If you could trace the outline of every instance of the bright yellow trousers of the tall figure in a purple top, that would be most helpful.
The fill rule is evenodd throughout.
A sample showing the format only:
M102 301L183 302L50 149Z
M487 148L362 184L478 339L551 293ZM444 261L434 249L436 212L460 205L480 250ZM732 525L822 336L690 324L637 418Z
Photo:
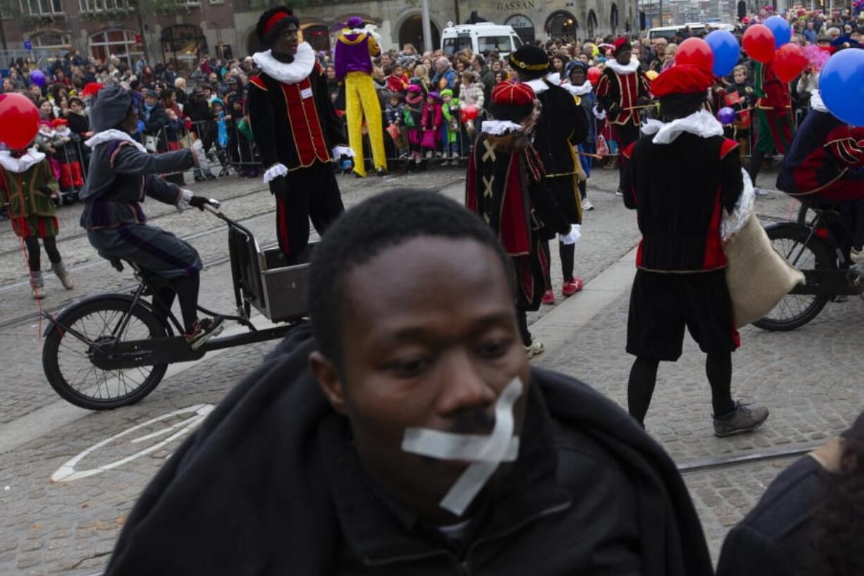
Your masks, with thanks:
M345 76L345 113L348 120L348 145L354 150L354 171L366 175L363 161L363 118L369 143L372 144L372 162L376 170L387 170L384 157L384 130L381 124L381 104L375 92L375 81L370 74L349 72Z

